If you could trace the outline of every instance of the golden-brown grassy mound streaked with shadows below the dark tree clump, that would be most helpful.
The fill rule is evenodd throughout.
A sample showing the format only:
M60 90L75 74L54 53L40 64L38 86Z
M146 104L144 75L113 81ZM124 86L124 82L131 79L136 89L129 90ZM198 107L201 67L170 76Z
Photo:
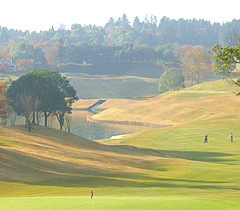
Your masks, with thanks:
M0 159L0 197L85 195L92 187L138 185L152 179L149 161L168 162L153 150L107 146L41 126L31 133L0 126Z

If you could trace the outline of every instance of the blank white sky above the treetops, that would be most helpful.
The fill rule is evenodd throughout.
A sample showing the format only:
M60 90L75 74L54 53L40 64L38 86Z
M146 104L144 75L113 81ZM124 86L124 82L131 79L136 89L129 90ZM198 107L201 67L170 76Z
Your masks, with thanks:
M211 23L240 19L239 0L3 0L0 26L15 30L44 31L63 24L104 26L112 17L126 14L132 24L136 16L144 21L146 15L170 19L204 19Z

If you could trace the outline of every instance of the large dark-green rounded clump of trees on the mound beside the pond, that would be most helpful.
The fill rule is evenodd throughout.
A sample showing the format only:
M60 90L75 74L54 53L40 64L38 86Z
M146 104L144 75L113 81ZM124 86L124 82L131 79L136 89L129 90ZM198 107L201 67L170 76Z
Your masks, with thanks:
M62 129L65 113L71 113L71 106L77 100L76 91L66 77L50 69L40 69L27 72L14 81L7 91L9 105L18 115L30 118L35 112L43 112L45 126L47 118L54 113Z

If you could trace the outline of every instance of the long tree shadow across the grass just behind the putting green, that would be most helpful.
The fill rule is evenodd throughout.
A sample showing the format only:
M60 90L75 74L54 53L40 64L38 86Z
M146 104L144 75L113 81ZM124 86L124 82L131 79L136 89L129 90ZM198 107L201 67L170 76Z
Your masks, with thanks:
M126 178L126 179L123 179ZM167 178L153 178L139 174L121 174L112 177L92 176L73 176L62 177L54 180L40 181L40 182L20 182L12 180L9 182L24 183L28 186L57 186L67 188L169 188L169 189L201 189L201 190L235 190L240 191L240 187L228 185L226 182L212 182L212 181L197 181L197 180L183 180L183 179L167 179Z

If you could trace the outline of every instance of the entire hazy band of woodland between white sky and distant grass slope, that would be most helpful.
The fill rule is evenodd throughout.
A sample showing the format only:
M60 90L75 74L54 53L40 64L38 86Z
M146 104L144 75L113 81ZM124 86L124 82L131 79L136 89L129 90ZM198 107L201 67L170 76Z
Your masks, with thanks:
M240 20L211 24L163 17L158 24L157 17L146 16L144 21L136 17L130 24L126 14L118 20L110 18L104 27L73 24L70 30L62 25L41 32L0 27L0 60L13 62L19 71L97 69L95 74L105 74L105 69L121 74L123 68L118 66L136 62L180 67L182 46L203 46L210 54L216 43L227 42L234 28L240 28ZM0 70L6 68L0 64Z

